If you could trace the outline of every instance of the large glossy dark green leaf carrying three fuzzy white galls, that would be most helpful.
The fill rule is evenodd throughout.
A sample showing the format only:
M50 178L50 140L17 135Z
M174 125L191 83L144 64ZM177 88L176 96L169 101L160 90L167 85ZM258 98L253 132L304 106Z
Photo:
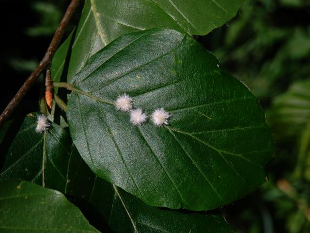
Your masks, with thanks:
M73 80L70 133L101 178L149 205L213 209L265 181L271 134L257 99L191 37L130 33L96 53ZM113 102L123 93L169 126L140 127Z

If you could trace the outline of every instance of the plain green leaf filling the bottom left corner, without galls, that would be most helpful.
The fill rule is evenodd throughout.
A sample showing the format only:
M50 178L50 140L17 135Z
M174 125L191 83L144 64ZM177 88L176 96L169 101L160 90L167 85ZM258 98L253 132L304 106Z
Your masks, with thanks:
M0 183L1 233L99 233L62 193L25 181Z

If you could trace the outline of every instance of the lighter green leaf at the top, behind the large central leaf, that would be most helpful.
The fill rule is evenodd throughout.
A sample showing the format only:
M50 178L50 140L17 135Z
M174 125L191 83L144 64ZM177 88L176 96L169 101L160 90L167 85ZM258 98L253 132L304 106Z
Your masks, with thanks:
M204 35L236 15L244 0L86 0L72 47L68 80L88 58L126 33L170 28Z

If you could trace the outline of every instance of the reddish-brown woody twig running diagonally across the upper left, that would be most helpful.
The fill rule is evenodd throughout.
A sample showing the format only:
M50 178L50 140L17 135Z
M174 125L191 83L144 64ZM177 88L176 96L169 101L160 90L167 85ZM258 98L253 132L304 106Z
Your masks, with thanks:
M3 113L0 115L0 128L2 127L3 123L9 118L12 112L15 110L15 108L20 103L20 101L24 98L24 96L29 91L29 89L31 88L31 86L33 85L37 77L46 69L47 66L49 66L62 40L62 36L65 31L65 28L67 27L70 19L72 18L74 11L78 7L78 3L79 3L79 0L71 0L62 18L62 21L60 22L54 34L54 37L48 46L47 52L45 53L42 61L39 63L38 67L36 67L32 71L31 75L28 77L25 83L20 87L15 97L10 101L8 106L4 109Z

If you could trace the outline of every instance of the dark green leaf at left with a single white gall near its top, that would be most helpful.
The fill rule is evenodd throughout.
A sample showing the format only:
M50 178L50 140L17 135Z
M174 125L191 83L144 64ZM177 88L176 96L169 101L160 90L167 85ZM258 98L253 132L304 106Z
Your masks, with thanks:
M64 193L72 145L70 135L54 123L46 133L37 133L37 116L32 113L23 122L15 120L0 129L0 151L5 156L0 181L22 178L43 186L48 183L49 188Z

